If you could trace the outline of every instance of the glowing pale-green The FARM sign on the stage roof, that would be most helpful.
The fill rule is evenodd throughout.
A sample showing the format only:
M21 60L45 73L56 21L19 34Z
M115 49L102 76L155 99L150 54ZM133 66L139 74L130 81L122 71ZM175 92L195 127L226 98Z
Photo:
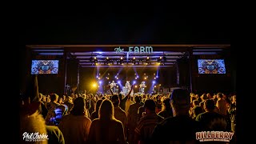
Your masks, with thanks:
M139 53L139 54L142 54L142 53L153 53L153 47L152 46L129 46L128 47L128 52L129 53ZM123 52L126 52L124 49L122 49L120 46L119 47L116 47L114 48L114 51L115 53L123 53Z

